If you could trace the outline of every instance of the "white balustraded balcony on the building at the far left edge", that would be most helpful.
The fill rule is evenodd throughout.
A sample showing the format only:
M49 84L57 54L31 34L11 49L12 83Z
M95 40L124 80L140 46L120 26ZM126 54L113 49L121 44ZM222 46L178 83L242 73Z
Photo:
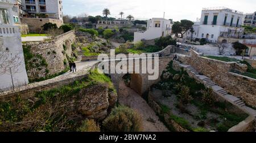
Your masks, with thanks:
M19 27L12 25L0 25L0 37L14 37L19 35Z

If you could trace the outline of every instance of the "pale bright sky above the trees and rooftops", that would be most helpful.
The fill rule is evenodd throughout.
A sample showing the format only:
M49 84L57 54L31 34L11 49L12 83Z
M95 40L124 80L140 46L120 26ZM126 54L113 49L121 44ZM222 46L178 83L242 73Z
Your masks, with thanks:
M109 17L121 18L133 15L135 19L147 20L163 18L179 21L200 18L204 7L228 7L244 14L256 11L256 0L63 0L64 15L79 14L101 15L104 8L109 8Z

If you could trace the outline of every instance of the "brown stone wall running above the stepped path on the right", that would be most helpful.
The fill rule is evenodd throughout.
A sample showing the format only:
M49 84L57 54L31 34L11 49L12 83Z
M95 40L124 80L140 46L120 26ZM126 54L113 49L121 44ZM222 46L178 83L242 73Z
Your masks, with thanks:
M230 70L245 72L247 69L245 64L200 57L193 50L191 51L191 56L185 57L183 62L190 64L197 71L210 77L229 93L242 98L248 105L256 107L256 80L230 72Z

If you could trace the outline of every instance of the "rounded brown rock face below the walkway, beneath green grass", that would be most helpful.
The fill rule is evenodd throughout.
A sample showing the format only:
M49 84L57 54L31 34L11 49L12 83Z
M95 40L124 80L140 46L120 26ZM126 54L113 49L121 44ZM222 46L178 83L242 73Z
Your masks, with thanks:
M108 88L105 86L95 85L80 91L76 108L86 118L102 120L108 107Z

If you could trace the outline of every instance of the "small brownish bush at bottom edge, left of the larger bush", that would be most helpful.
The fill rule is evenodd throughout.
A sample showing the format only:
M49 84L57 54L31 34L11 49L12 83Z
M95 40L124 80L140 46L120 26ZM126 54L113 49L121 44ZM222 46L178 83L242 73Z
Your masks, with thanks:
M78 132L100 132L100 126L92 119L82 121L82 124L77 128Z

